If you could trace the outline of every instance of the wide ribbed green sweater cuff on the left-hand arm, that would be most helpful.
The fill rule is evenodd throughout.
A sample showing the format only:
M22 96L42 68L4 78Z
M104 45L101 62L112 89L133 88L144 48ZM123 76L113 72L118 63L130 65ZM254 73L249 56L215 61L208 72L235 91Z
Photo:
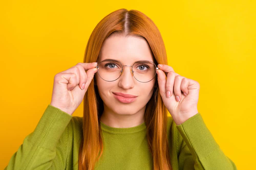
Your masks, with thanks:
M72 115L49 104L28 140L36 146L55 150L71 118Z

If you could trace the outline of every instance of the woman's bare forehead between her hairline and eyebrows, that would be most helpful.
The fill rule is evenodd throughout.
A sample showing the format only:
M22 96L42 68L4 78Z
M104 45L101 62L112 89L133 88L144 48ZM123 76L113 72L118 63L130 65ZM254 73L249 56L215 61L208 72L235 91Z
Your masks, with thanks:
M138 60L154 61L150 46L143 37L119 34L104 41L97 61L106 59L118 60L123 64L132 64Z

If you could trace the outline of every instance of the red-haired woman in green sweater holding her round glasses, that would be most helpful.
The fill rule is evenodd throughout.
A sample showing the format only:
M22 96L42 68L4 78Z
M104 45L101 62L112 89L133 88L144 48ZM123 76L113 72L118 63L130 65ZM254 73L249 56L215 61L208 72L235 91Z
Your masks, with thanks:
M84 63L55 75L51 103L6 169L237 169L198 113L199 88L167 65L150 18L116 10ZM83 117L72 116L83 99Z

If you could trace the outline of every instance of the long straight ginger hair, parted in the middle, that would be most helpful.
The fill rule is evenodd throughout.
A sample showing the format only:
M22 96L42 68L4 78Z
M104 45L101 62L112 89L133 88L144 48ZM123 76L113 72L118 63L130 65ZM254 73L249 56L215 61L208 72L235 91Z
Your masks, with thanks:
M115 33L145 38L150 45L156 64L167 64L164 42L154 22L140 11L124 8L111 12L96 25L86 46L84 62L97 61L104 40ZM95 77L84 95L83 104L83 136L79 149L78 167L91 170L94 169L103 151L100 127L103 101L95 85ZM146 106L144 120L154 169L172 169L167 138L167 109L159 93L157 79L153 95Z

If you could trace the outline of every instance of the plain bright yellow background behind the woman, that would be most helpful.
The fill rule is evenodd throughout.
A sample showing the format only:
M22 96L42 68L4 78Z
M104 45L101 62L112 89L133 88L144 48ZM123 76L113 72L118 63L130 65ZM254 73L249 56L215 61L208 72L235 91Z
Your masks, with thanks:
M200 84L198 111L237 168L255 162L255 1L2 1L0 169L35 129L54 75L83 61L110 12L136 9L159 28L168 65ZM82 116L82 104L73 116Z

